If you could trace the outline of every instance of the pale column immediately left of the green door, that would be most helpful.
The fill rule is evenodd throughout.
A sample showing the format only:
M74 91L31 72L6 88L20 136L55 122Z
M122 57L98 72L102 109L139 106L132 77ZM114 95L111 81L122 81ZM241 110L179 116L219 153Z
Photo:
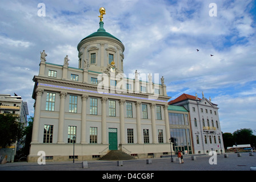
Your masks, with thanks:
M101 143L106 144L107 143L107 118L106 118L106 102L107 97L101 98L101 105L102 105L102 111L101 111Z

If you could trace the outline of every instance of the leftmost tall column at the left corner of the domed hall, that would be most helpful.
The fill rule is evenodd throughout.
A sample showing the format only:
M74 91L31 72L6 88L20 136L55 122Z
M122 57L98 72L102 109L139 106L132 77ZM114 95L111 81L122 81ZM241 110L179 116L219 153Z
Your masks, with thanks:
M33 132L32 132L31 143L39 143L38 142L38 130L39 130L41 100L42 100L43 89L40 89L40 88L35 89L35 94L37 94L37 98L35 99L35 113L34 113Z

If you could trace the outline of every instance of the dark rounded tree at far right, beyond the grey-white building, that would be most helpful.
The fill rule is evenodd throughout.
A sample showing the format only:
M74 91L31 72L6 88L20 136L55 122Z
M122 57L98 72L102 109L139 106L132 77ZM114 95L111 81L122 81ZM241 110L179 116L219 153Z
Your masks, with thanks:
M252 144L253 130L251 129L240 129L233 133L234 141L237 144ZM253 142L254 143L254 142Z

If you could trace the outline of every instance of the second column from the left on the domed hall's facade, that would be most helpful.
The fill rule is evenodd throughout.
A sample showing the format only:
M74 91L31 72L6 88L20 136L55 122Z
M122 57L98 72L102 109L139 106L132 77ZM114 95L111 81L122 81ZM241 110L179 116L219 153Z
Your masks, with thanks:
M61 92L59 96L61 97L61 102L59 104L59 130L58 130L57 143L64 143L64 140L63 140L64 114L65 114L65 98L67 96L67 92Z

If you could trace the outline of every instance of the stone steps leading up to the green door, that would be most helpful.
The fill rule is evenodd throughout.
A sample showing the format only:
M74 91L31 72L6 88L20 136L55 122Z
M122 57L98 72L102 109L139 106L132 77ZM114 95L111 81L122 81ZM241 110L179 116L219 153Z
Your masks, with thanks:
M106 155L99 158L99 160L133 160L133 156L126 154L120 150L110 150Z

